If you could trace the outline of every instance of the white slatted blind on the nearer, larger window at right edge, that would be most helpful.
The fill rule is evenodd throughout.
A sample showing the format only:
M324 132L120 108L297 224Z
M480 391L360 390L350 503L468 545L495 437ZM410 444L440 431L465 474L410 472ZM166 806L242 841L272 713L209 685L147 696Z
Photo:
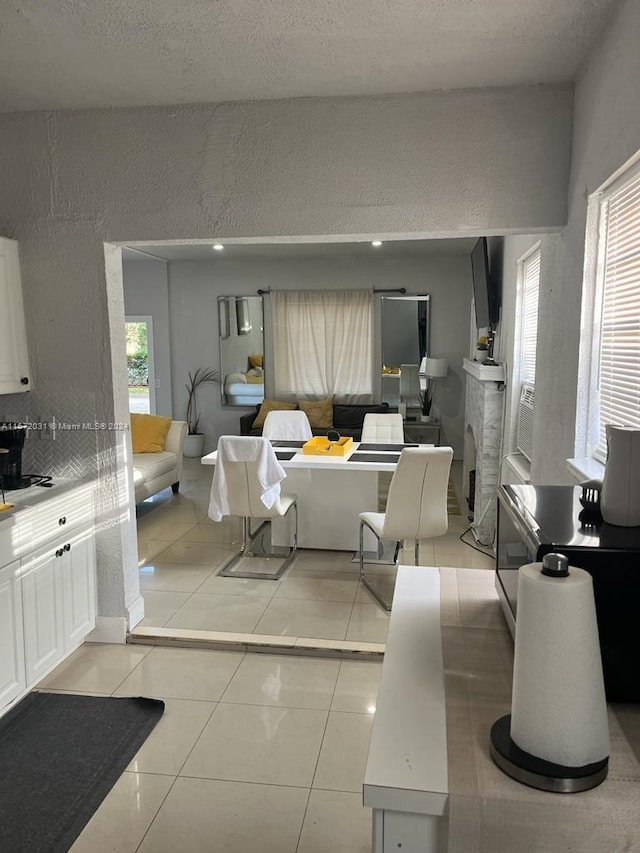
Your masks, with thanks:
M640 429L640 172L604 207L600 429L594 455L606 458L606 424Z

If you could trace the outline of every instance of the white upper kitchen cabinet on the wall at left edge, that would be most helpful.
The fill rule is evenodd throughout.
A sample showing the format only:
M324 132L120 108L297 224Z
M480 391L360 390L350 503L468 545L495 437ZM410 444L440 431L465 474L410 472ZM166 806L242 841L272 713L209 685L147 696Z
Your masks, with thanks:
M0 394L31 387L18 244L0 237Z

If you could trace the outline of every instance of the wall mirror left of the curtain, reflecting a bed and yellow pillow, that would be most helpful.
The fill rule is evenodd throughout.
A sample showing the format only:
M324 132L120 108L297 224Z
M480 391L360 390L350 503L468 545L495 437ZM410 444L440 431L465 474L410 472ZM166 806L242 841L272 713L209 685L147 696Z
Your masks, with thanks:
M261 403L264 400L262 297L219 296L218 316L222 405Z

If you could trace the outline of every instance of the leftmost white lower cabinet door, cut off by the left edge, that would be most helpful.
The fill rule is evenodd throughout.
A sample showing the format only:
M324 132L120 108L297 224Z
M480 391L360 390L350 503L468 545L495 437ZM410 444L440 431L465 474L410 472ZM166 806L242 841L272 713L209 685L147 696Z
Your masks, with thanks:
M26 687L19 562L0 569L0 708Z

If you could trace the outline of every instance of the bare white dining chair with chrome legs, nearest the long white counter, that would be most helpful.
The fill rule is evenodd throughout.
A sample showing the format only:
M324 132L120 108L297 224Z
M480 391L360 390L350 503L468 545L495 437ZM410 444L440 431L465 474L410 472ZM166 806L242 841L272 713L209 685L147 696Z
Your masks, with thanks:
M447 491L452 459L451 447L405 448L391 479L386 511L360 513L360 580L385 610L391 610L391 602L365 573L364 528L378 542L395 540L396 564L401 543L413 540L414 560L419 565L420 540L443 536L449 528Z

